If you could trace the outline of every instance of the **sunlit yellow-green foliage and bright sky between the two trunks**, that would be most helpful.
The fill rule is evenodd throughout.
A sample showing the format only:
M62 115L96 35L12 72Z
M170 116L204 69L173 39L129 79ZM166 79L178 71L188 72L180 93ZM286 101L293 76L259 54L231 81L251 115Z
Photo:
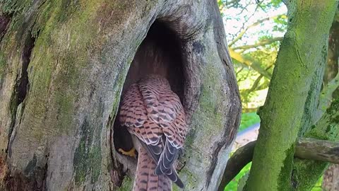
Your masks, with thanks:
M218 0L218 5L243 108L258 108L266 98L279 42L287 29L287 9L281 0Z

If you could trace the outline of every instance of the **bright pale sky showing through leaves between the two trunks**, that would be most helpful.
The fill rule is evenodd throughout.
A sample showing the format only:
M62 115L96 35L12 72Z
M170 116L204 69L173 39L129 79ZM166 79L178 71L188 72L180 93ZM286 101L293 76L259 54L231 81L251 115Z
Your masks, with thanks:
M263 3L268 3L270 1L264 0ZM246 6L246 8L223 8L222 9L222 19L224 21L225 32L227 35L227 43L230 45L230 42L239 35L239 31L242 28L247 28L247 26L256 23L256 21L263 18L270 18L278 15L286 15L287 7L285 4L280 4L278 8L271 7L263 8L258 7L255 0L240 0L239 4L241 6ZM287 20L287 18L285 18ZM253 45L258 41L258 37L263 35L270 35L272 37L283 37L285 31L274 31L273 26L277 25L273 22L273 18L270 18L268 21L264 21L260 25L247 30L242 39L238 40L232 47L237 47L240 45ZM247 50L251 51L251 50ZM249 76L249 79L241 81L238 83L240 89L251 88L252 83L256 80L258 75ZM260 105L263 105L266 100L268 88L261 91L256 91L253 98L247 105L249 108L257 108Z

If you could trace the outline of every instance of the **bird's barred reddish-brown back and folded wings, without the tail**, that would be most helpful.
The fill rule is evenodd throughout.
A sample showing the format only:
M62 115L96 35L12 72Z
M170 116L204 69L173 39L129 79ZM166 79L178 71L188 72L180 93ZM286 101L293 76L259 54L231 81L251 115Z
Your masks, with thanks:
M173 168L186 137L186 119L179 97L159 81L133 84L121 103L120 122L141 141L156 175L166 175L184 187ZM162 137L165 135L164 141Z

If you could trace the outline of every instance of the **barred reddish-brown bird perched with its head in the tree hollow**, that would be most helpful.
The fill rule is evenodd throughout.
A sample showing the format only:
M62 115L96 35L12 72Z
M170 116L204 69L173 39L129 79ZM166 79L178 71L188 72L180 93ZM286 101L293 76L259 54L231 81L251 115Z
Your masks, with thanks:
M172 182L183 188L174 161L186 138L186 115L167 79L152 74L133 83L121 100L119 122L138 151L133 190L172 190ZM119 151L133 156L135 149Z

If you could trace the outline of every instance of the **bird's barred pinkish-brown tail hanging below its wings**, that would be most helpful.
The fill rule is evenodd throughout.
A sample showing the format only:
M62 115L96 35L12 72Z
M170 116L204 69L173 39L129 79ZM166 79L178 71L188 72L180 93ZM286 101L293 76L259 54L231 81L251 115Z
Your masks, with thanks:
M155 175L157 164L148 156L143 146L138 153L138 166L134 180L134 191L171 191L172 183L166 175Z

